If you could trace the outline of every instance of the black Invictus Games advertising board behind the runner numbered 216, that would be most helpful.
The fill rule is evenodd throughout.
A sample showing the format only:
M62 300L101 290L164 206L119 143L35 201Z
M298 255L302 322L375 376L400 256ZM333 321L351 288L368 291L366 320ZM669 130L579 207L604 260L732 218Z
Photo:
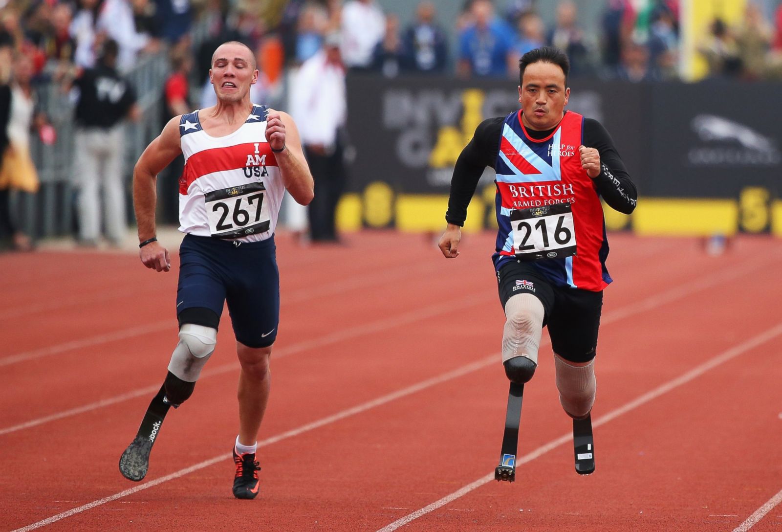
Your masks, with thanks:
M396 192L447 193L456 158L486 118L518 110L518 82L451 77L348 77L348 131L356 147L350 191L387 182ZM569 110L600 120L640 184L647 169L647 88L574 81ZM644 104L646 102L646 104ZM491 171L484 180L493 179Z

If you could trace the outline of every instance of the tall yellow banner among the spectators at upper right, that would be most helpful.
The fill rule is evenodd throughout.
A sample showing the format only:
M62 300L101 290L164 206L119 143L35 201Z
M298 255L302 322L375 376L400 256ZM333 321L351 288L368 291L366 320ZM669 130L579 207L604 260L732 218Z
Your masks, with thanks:
M721 19L728 27L741 22L747 0L682 0L680 3L680 73L686 81L708 74L708 65L698 48L707 45L711 25Z

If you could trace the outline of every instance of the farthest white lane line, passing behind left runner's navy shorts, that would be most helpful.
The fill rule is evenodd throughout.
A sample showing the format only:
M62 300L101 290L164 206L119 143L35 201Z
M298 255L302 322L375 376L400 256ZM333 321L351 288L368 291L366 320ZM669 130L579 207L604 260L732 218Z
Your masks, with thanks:
M429 271L432 268L418 268L412 271L420 273L421 271ZM411 268L396 268L394 270L398 272L398 277L405 278L411 273ZM302 289L292 292L289 296L282 297L283 308L288 304L300 303L301 301L311 300L314 297L326 297L338 293L344 293L350 289L361 289L366 286L374 286L378 282L378 275L382 279L391 279L396 275L393 271L381 271L375 272L372 275L365 275L364 277L354 278L347 282L333 282L328 286L323 286L320 289ZM9 357L0 358L0 367L5 365L16 364L17 362L34 360L35 358L48 357L52 354L65 353L71 350L84 349L85 347L92 347L102 343L116 342L118 340L126 340L128 338L134 338L135 336L142 336L150 333L160 333L165 330L176 330L173 318L166 319L160 322L149 323L146 325L140 325L137 327L131 327L129 329L122 329L113 333L99 334L96 336L89 336L82 340L74 340L66 343L59 343L50 347L41 347L40 349L25 351L23 353L14 354Z

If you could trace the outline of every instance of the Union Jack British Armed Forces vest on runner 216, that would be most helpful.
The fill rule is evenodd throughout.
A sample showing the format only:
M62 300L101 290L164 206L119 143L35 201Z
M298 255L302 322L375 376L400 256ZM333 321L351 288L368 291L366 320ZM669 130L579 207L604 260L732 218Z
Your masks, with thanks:
M567 210L568 223L555 228L560 235L575 239L575 254L568 257L549 257L531 261L529 265L540 271L555 286L600 291L612 281L605 268L608 257L608 238L600 196L593 180L581 167L579 146L583 144L583 116L569 111L557 128L546 138L528 135L522 124L522 111L505 117L500 135L500 149L494 166L497 172L497 247L493 254L494 267L500 270L508 261L517 260L520 235L529 237L546 232L532 220L524 232L514 231L511 220L519 213L540 215L546 207ZM565 205L562 205L565 204ZM571 217L572 215L572 217ZM517 222L518 223L518 222ZM540 224L540 221L539 221ZM537 229L536 229L537 228ZM540 230L540 231L539 231ZM546 243L553 241L554 225L548 227Z

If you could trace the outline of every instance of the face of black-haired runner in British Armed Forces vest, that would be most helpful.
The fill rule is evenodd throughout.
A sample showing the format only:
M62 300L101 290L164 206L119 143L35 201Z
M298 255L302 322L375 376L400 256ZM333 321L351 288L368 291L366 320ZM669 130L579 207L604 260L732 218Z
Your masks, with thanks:
M553 129L562 120L569 96L560 66L542 61L527 65L518 86L524 126L536 131Z

